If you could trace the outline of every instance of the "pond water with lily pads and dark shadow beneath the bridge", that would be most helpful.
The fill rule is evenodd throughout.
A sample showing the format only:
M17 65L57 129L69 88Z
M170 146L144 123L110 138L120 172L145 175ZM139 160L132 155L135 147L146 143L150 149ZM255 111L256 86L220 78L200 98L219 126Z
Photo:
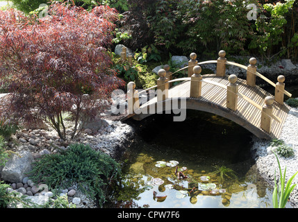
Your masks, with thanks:
M249 131L206 112L188 110L183 122L172 118L131 121L137 137L105 207L272 207L272 187L256 171Z

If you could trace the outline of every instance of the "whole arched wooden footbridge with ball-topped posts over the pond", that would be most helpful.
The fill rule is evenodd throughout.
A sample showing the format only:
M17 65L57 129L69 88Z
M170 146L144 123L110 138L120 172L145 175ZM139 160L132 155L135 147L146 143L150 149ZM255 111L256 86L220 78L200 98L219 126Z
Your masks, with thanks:
M288 105L283 103L284 94L292 96L285 91L283 83L285 77L279 76L278 82L273 83L256 71L256 58L251 58L250 65L246 67L227 61L224 51L220 51L219 56L217 60L197 62L197 55L191 53L188 67L183 68L188 69L188 77L185 78L172 79L174 73L169 71L168 65L165 65L164 69L158 71L160 78L157 80L157 85L149 88L157 89L156 96L141 105L139 94L148 92L149 89L138 92L135 83L129 83L128 113L122 121L129 118L142 120L151 114L170 113L169 111L174 112L178 109L201 110L230 119L261 139L279 138L290 110ZM216 73L201 76L199 65L207 63L217 63ZM226 76L226 65L246 69L247 79L240 79L235 75ZM256 76L275 87L274 96L256 85ZM172 86L175 81L181 83Z

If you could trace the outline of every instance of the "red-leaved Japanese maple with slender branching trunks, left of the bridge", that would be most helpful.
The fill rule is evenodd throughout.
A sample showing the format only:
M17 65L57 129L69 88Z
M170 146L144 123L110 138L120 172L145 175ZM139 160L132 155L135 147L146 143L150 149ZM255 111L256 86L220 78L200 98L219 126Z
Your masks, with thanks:
M107 51L117 11L53 2L48 14L38 19L0 10L0 81L12 92L2 115L42 119L65 139L63 112L69 112L73 138L79 120L96 117L113 89L123 84L109 68Z

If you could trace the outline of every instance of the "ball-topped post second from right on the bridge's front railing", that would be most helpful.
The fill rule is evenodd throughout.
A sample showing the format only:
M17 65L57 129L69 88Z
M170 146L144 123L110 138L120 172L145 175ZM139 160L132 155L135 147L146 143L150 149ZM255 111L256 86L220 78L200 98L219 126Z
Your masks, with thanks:
M238 103L238 84L236 84L238 77L236 75L229 76L229 85L227 85L226 90L226 108L229 108L233 111L237 110Z

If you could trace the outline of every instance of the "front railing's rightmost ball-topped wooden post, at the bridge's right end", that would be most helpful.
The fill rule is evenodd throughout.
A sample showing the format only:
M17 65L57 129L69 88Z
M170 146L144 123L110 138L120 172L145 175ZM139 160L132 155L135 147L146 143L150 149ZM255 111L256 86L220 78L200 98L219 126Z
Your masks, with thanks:
M265 98L265 105L263 105L262 114L260 117L260 128L265 130L267 133L270 133L271 131L271 117L269 115L272 114L273 103L274 99L272 96L267 96Z

